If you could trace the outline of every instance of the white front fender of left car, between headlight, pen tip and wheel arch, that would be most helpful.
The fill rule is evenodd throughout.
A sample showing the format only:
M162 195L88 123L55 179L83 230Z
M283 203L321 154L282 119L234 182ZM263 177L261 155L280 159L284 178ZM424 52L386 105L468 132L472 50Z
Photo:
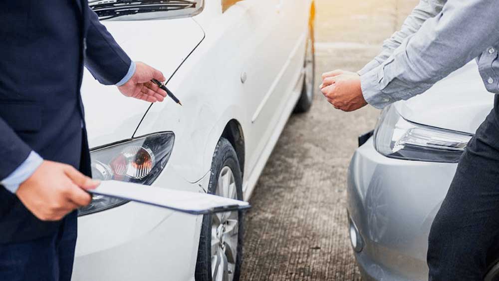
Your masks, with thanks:
M203 46L200 46L203 49ZM204 52L195 51L167 83L182 101L175 104L168 97L151 105L134 137L160 131L175 133L175 145L165 169L175 170L188 182L197 182L211 168L211 160L225 126L237 119L243 127L244 107L238 104L242 90L237 84L221 88ZM198 77L193 78L193 77Z

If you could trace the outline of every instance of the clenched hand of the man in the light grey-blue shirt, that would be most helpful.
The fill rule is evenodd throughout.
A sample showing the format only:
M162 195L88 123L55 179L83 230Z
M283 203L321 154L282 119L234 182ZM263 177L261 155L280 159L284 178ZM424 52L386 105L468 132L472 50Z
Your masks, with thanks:
M340 69L326 72L322 74L320 89L336 109L354 111L367 105L362 95L360 76L355 72Z

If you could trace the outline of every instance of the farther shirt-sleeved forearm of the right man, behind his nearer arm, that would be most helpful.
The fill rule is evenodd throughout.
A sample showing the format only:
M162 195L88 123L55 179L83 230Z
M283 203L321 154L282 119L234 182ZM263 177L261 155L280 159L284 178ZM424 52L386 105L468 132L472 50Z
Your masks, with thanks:
M393 33L390 38L383 42L381 53L366 64L358 73L363 75L386 61L407 37L416 33L421 28L427 19L436 16L442 11L442 4L440 3L443 1L444 0L421 0L406 18L400 30Z

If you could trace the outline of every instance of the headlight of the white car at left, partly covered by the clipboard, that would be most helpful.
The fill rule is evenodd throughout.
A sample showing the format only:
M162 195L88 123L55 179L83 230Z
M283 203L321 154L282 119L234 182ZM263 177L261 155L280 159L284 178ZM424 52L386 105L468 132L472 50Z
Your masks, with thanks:
M151 185L166 166L172 153L175 135L172 132L144 137L92 149L92 177ZM87 215L126 203L126 200L95 195L92 202L79 210Z

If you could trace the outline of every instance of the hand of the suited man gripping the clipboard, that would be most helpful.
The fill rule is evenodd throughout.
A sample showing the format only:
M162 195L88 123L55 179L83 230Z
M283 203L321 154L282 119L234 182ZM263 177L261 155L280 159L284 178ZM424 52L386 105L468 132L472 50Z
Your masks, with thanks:
M58 221L92 200L84 189L94 189L98 181L70 165L43 161L15 193L24 206L42 221Z

